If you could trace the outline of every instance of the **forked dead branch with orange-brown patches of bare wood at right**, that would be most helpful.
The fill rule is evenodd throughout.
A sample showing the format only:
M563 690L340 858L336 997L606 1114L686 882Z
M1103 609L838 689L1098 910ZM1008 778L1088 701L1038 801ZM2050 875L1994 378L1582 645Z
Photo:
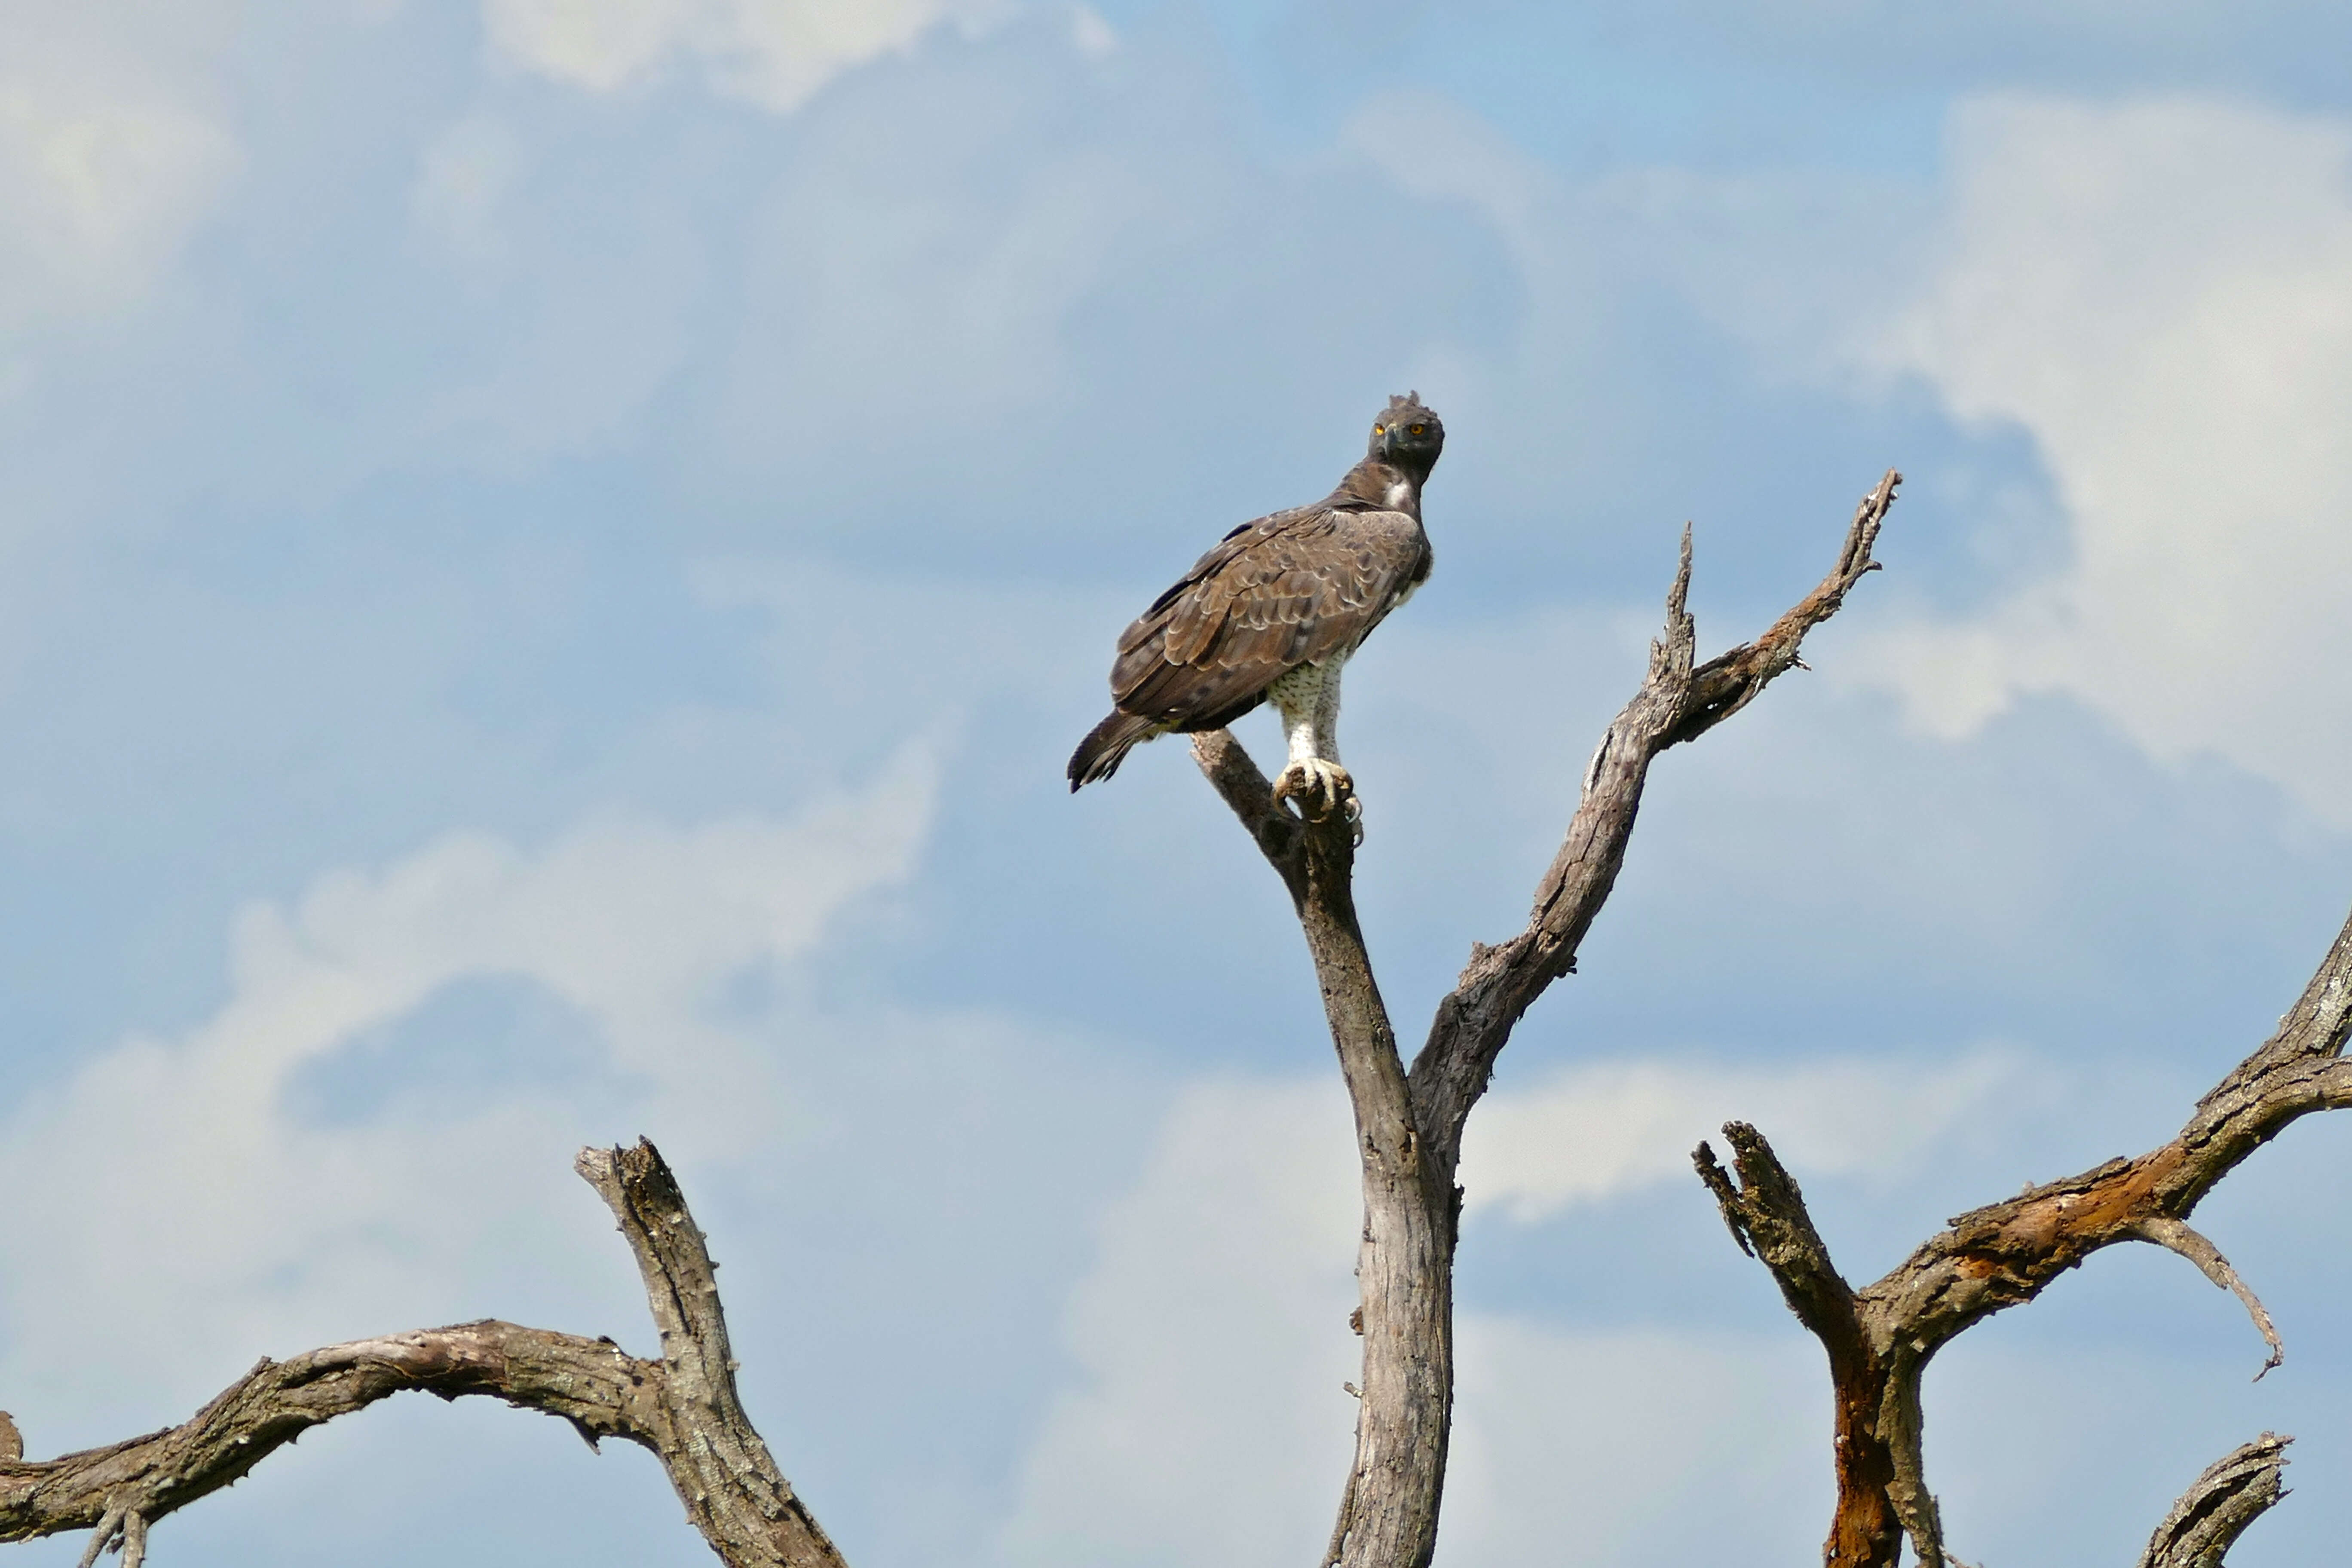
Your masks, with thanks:
M1860 1291L1844 1291L1828 1267L1828 1251L1820 1251L1816 1265L1766 1246L1755 1248L1792 1307L1804 1291L1844 1291L1860 1326L1865 1354L1856 1359L1844 1338L1823 1333L1820 1309L1797 1312L1830 1352L1837 1389L1839 1488L1823 1547L1825 1563L1893 1568L1900 1542L1884 1533L1889 1509L1903 1521L1922 1568L1947 1561L1922 1462L1919 1378L1957 1335L1994 1312L2030 1302L2058 1274L2105 1246L2147 1241L2194 1262L2206 1279L2237 1293L2260 1331L2270 1354L2256 1378L2279 1363L2284 1347L2270 1312L2230 1260L2190 1229L2187 1215L2220 1178L2291 1121L2352 1105L2352 1060L2343 1056L2347 1032L2352 922L2345 922L2303 997L2279 1020L2277 1034L2197 1103L2171 1143L2138 1159L2110 1159L2082 1175L1971 1208ZM1740 1248L1757 1241L1759 1215L1771 1215L1778 1225L1802 1222L1811 1237L1804 1199L1762 1133L1733 1121L1724 1126L1724 1138L1733 1150L1738 1182L1715 1164L1708 1145L1698 1145L1696 1161ZM1818 1246L1818 1237L1813 1244ZM1835 1281L1835 1291L1823 1276Z

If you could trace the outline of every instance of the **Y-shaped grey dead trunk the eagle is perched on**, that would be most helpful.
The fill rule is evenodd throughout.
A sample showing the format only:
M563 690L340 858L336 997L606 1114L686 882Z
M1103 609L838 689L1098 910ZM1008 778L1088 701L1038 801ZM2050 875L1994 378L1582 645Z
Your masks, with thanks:
M1327 816L1282 809L1265 776L1225 731L1192 738L1202 773L1279 872L1298 910L1341 1077L1355 1105L1364 1168L1357 1253L1364 1387L1357 1450L1331 1533L1327 1568L1425 1568L1437 1544L1446 1439L1454 1415L1454 1248L1461 1190L1454 1173L1470 1110L1526 1009L1576 969L1576 947L1616 886L1651 759L1696 741L1795 668L1804 635L1837 614L1870 557L1903 475L1889 473L1846 529L1837 564L1762 637L1693 665L1691 534L1651 644L1642 689L1602 733L1559 853L1536 886L1526 929L1472 945L1454 992L1437 1006L1411 1072L1355 919L1352 823L1345 802Z

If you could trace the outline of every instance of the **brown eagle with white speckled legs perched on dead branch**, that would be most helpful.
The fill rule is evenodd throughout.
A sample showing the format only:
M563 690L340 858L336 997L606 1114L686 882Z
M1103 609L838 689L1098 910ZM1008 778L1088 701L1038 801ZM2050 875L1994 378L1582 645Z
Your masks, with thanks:
M1070 788L1110 778L1141 741L1223 729L1272 698L1291 759L1275 795L1329 811L1352 792L1338 764L1338 672L1430 576L1421 487L1446 428L1421 393L1390 397L1371 449L1329 496L1244 522L1120 635L1112 715L1070 755Z

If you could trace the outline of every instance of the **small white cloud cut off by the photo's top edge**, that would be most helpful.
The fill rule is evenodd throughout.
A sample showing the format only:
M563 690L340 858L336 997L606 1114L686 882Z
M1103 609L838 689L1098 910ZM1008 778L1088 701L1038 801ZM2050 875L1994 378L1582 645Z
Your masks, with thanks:
M588 92L689 63L724 96L786 113L842 71L906 49L957 0L485 0L506 59Z

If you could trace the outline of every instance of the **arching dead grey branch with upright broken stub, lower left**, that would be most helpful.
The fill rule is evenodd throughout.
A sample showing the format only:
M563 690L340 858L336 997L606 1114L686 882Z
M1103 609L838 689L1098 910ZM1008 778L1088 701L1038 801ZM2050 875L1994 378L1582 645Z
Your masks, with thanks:
M165 1514L240 1481L310 1427L423 1389L560 1415L590 1448L604 1436L649 1448L694 1528L731 1568L842 1568L736 1399L710 1253L677 1178L644 1140L583 1150L576 1168L637 1255L661 1331L659 1361L612 1340L499 1321L261 1361L179 1427L56 1460L0 1458L0 1542L87 1528L85 1568L108 1544L122 1547L122 1568L139 1568L148 1528ZM7 1418L0 1427L14 1436ZM21 1453L21 1443L9 1446Z

